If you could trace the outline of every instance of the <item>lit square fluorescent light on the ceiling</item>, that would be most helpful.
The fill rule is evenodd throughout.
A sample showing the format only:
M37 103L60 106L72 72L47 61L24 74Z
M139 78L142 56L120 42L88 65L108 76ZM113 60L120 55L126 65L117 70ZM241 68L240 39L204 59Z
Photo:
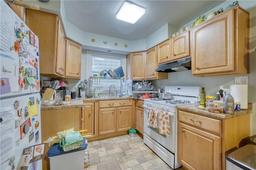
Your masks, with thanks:
M116 19L129 23L136 23L145 12L146 10L144 8L126 1L116 14Z

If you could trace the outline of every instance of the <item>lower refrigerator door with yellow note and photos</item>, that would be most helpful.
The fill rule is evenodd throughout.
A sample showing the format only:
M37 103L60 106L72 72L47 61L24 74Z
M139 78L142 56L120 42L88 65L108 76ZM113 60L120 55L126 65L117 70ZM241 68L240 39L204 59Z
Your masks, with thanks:
M28 161L26 166L28 169L32 168L32 166L42 169L42 160L35 161L34 152L24 154L25 148L30 149L33 145L42 143L40 94L30 94L0 100L0 105L0 169L11 169L10 162L13 156L15 156L15 169L22 169L24 158L27 155ZM34 147L32 147L32 151L34 151Z

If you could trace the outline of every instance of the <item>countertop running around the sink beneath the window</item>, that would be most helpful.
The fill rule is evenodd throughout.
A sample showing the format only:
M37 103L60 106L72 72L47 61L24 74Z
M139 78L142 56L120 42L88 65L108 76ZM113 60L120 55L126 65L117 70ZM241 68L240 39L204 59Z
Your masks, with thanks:
M70 104L68 105L59 105L59 106L46 106L41 105L41 110L56 110L56 109L70 109L70 108L76 108L76 107L84 107L84 101L99 101L99 100L116 100L116 99L134 99L134 97L116 97L116 98L76 98L71 99ZM139 98L139 100L143 100L142 98Z

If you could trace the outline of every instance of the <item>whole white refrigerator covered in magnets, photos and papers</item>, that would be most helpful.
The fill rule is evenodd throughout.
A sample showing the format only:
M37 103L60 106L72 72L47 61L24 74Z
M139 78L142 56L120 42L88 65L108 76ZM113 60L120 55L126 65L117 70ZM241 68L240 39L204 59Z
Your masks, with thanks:
M0 12L0 169L42 169L38 37L4 1Z

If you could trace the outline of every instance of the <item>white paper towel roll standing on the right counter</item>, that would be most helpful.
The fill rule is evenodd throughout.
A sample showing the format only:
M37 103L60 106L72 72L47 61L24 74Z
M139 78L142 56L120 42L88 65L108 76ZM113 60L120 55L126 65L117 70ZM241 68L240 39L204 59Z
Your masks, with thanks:
M230 94L234 102L240 101L241 109L248 108L248 84L230 84Z

